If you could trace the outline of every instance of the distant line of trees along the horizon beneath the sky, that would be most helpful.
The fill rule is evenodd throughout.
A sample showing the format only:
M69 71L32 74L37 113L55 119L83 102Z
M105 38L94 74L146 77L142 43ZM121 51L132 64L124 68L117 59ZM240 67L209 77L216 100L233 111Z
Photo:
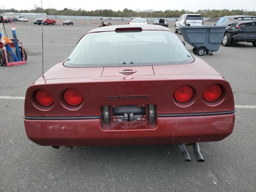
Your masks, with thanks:
M31 10L16 10L16 9L0 9L0 12L15 12L15 13L40 13L41 8L35 7ZM164 17L164 18L178 18L182 14L202 14L203 17L222 17L228 15L252 15L256 16L256 11L247 11L247 10L229 10L229 9L205 9L198 11L189 11L189 10L165 10L165 11L156 11L156 10L131 10L125 8L124 10L114 11L111 9L100 9L100 10L91 10L86 11L82 9L70 9L64 8L63 10L56 10L54 8L43 9L43 12L48 15L70 15L70 16L103 16L103 17L132 17L132 16L141 16L141 17Z

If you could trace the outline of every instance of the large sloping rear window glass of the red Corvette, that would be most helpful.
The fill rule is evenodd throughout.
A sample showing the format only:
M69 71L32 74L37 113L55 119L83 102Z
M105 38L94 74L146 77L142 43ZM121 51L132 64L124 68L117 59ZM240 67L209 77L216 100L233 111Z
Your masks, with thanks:
M173 32L110 31L86 34L64 65L68 67L148 66L188 64L193 61L190 52Z

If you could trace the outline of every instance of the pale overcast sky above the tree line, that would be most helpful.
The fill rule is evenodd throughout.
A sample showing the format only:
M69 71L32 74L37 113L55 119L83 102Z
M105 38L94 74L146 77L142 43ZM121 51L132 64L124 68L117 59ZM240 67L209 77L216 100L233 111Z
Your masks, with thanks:
M64 8L96 10L96 9L112 9L123 10L124 8L132 10L190 10L197 11L199 9L244 9L249 11L256 10L256 0L160 0L160 1L142 1L142 0L42 0L43 8L56 8L57 10ZM33 9L34 6L41 6L41 0L1 0L1 6L6 8Z

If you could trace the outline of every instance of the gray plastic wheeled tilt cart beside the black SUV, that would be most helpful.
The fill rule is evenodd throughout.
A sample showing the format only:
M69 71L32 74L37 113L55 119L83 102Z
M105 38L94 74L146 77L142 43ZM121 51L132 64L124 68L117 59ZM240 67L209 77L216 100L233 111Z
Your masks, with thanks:
M226 26L180 26L184 40L193 46L193 52L199 56L212 55L218 51Z

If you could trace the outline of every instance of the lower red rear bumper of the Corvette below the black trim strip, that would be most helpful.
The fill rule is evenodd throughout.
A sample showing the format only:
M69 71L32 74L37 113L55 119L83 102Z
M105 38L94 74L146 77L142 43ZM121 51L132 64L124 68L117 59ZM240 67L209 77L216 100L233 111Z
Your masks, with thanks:
M219 141L230 135L235 114L158 117L143 126L107 128L100 119L24 119L30 140L44 146L104 146L134 144L177 144Z

